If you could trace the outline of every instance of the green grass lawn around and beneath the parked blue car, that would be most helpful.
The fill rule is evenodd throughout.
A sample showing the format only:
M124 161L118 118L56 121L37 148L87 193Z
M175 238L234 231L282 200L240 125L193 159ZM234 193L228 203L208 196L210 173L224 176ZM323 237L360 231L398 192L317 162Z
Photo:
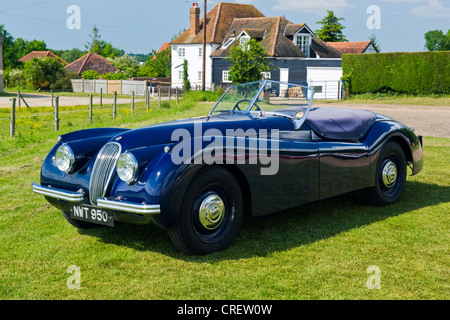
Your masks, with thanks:
M202 257L178 252L155 226L78 231L31 191L61 133L136 128L210 107L137 104L131 116L121 106L116 120L97 107L92 125L85 107L66 107L60 132L52 115L22 108L15 138L0 121L0 299L450 298L450 139L424 138L425 167L392 206L367 206L355 193L248 220L229 249ZM71 266L79 289L67 286ZM367 286L369 266L379 268L380 289Z

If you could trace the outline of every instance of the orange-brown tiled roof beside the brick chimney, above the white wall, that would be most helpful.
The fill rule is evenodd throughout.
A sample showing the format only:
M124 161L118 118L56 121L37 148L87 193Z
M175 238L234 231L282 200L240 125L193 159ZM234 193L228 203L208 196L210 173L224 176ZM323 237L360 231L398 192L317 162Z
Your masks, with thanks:
M206 14L206 42L222 43L233 19L247 17L264 17L264 15L253 5L220 2ZM202 18L200 19L200 28L197 34L192 35L191 30L188 29L175 38L171 43L202 43L203 28L204 21Z

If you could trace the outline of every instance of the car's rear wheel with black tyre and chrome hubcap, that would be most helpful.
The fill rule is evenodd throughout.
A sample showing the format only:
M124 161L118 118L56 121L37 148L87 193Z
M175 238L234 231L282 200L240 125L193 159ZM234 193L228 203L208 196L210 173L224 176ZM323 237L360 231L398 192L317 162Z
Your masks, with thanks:
M375 172L375 186L366 190L366 199L375 206L397 202L406 183L406 158L402 147L388 142L381 150Z

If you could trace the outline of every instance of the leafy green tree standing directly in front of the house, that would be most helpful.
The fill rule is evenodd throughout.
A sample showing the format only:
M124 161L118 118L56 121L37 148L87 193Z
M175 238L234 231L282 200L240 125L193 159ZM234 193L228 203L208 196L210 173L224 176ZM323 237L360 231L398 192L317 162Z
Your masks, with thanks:
M234 84L261 80L261 72L269 71L267 52L255 39L244 45L236 43L226 59L231 64L229 74Z

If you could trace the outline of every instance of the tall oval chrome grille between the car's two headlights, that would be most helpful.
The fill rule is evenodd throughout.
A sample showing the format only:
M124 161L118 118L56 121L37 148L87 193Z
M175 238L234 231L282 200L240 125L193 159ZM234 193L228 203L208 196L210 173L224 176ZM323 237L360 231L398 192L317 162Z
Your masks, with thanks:
M89 199L92 204L97 205L97 199L105 196L121 149L120 144L110 142L98 153L89 182Z

